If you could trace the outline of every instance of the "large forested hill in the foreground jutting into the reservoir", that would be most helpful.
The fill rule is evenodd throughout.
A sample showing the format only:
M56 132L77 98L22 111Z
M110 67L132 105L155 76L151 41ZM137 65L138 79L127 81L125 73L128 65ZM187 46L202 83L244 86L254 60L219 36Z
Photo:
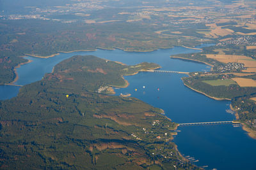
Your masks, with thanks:
M0 103L1 169L195 169L170 142L175 123L161 110L104 94L125 85L122 74L156 67L75 56L22 87Z

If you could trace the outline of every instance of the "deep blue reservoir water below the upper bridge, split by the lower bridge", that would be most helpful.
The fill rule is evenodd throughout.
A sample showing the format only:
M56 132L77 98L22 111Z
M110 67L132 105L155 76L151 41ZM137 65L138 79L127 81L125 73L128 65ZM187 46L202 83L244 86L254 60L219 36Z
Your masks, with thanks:
M130 93L132 97L162 108L173 122L235 119L226 111L230 109L230 101L215 101L188 89L180 80L182 76L148 72L125 76L129 87L116 89L116 95ZM256 169L256 140L250 138L241 127L233 127L232 124L191 125L178 127L177 130L175 144L185 157L199 160L193 162L197 166L208 166L205 169Z

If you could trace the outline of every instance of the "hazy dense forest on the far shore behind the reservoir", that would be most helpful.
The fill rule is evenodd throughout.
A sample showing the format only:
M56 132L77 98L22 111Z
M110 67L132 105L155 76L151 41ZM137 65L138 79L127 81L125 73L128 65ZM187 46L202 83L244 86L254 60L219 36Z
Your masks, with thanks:
M202 27L205 26L202 25ZM0 64L3 67L0 67L0 83L10 83L14 80L13 69L26 61L20 57L25 54L49 56L58 52L95 50L97 48L150 51L159 48L172 48L175 45L200 44L195 39L188 40L183 36L179 39L175 36L161 36L156 33L159 29L161 30L163 27L150 25L147 22L67 24L36 19L1 20ZM178 27L168 27L168 29L175 31L178 30ZM186 35L186 31L184 31L184 35Z

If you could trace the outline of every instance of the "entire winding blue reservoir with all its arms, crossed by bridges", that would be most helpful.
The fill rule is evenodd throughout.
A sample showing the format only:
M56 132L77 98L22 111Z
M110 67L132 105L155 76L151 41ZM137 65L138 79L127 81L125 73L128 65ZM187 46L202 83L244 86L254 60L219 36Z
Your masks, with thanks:
M169 71L209 71L205 64L170 59L177 53L199 52L176 46L154 52L124 52L122 50L96 50L93 52L60 53L55 57L40 59L26 57L33 62L17 69L19 80L16 85L26 85L41 80L52 67L74 55L95 55L109 60L138 64L155 62L161 70ZM129 93L152 106L162 108L166 117L173 122L212 122L234 120L229 101L215 101L185 87L180 80L186 74L141 72L125 76L129 87L115 89L116 95ZM145 88L144 88L145 87ZM0 99L10 99L17 95L20 87L0 86ZM138 90L134 90L138 89ZM256 140L250 138L241 127L232 124L191 125L179 127L174 142L180 153L205 169L256 169Z

